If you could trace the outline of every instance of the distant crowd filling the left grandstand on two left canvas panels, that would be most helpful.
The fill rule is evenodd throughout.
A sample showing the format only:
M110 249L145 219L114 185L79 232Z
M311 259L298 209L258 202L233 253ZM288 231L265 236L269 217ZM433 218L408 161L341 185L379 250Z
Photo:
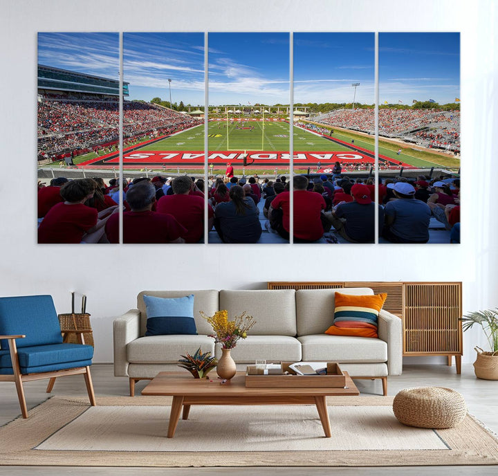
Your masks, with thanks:
M61 158L76 150L117 143L119 104L116 101L56 101L38 103L38 154ZM173 134L201 124L199 118L157 104L125 101L124 138Z

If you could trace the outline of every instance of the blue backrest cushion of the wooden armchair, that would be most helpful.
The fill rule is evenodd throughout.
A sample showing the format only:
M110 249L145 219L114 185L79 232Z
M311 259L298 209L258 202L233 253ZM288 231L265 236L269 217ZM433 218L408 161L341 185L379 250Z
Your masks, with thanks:
M16 346L62 343L59 319L50 295L0 297L0 336L25 335ZM8 349L7 340L0 340Z

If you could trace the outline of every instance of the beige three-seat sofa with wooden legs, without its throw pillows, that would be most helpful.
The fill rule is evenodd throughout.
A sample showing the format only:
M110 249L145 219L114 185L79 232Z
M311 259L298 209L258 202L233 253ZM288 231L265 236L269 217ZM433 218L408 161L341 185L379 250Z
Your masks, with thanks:
M114 375L129 378L130 395L135 383L151 379L158 372L180 371L178 358L198 347L221 356L221 348L208 337L212 329L199 311L213 315L227 309L229 316L248 311L257 324L248 338L237 342L232 357L237 367L256 359L284 361L333 361L353 378L381 378L387 394L387 376L402 371L401 320L387 311L380 311L378 338L329 336L324 333L332 323L335 292L373 294L369 288L261 290L261 291L142 291L138 309L131 309L113 322ZM196 336L144 337L147 313L143 295L183 297L194 294Z

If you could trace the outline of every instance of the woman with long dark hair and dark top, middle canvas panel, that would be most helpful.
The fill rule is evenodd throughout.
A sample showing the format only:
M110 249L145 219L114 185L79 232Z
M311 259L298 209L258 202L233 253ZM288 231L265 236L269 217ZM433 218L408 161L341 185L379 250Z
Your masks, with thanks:
M223 243L256 243L261 237L259 210L244 196L240 185L230 187L230 201L219 203L214 210L214 228Z

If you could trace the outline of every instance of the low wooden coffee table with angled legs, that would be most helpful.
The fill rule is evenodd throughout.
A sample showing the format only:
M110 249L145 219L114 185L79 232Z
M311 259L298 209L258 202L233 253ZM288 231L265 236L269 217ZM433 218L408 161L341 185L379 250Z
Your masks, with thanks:
M331 437L326 396L359 395L358 388L346 376L346 388L273 388L246 387L245 372L237 372L232 380L222 383L214 375L211 379L193 378L187 372L160 372L145 388L142 395L173 396L167 437L174 437L178 419L186 420L191 405L316 405L327 438ZM320 378L320 377L317 377Z

